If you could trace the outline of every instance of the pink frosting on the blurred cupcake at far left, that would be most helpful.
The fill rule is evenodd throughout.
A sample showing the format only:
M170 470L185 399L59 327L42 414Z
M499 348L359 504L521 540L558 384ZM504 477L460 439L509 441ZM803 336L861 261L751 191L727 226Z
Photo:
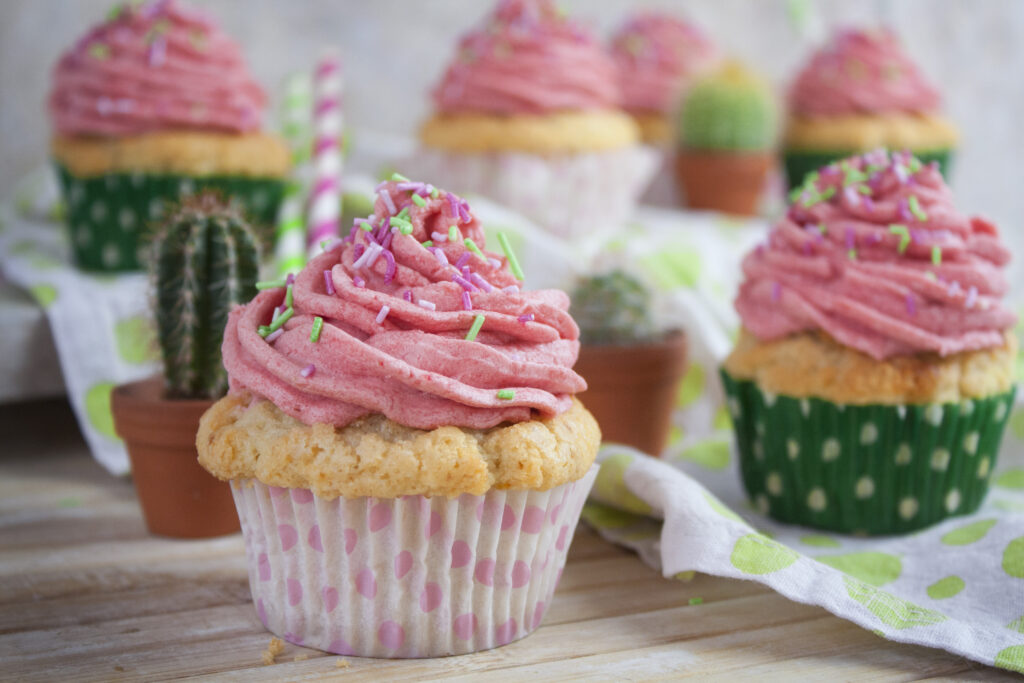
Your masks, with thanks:
M66 135L256 130L266 96L238 44L174 0L126 4L60 56L49 98Z

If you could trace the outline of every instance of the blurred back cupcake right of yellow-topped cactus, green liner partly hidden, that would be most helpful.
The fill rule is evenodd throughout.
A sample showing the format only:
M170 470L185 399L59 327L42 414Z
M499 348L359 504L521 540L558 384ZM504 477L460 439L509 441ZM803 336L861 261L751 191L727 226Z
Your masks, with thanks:
M782 160L791 189L818 167L880 146L909 150L948 173L956 130L888 29L833 36L797 76L788 104Z

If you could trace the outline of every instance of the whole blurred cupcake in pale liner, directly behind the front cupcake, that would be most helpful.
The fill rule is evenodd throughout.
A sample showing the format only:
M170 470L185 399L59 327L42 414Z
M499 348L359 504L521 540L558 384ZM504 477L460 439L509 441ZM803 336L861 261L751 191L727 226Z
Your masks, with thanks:
M653 153L622 111L615 65L550 0L503 0L459 43L399 168L488 197L562 237L624 221Z

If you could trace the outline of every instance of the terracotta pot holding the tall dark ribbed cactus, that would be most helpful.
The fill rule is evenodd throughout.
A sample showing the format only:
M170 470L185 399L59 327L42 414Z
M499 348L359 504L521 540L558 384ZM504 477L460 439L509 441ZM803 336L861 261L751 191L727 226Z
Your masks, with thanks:
M196 432L211 400L164 397L154 377L115 387L114 426L125 440L150 531L203 539L239 530L230 486L199 464Z

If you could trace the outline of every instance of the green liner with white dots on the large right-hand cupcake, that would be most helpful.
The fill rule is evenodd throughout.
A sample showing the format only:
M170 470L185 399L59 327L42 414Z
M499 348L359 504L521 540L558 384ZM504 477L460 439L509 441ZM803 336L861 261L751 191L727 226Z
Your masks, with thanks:
M725 371L722 379L755 507L782 522L872 536L977 510L1016 392L846 405L772 394Z

